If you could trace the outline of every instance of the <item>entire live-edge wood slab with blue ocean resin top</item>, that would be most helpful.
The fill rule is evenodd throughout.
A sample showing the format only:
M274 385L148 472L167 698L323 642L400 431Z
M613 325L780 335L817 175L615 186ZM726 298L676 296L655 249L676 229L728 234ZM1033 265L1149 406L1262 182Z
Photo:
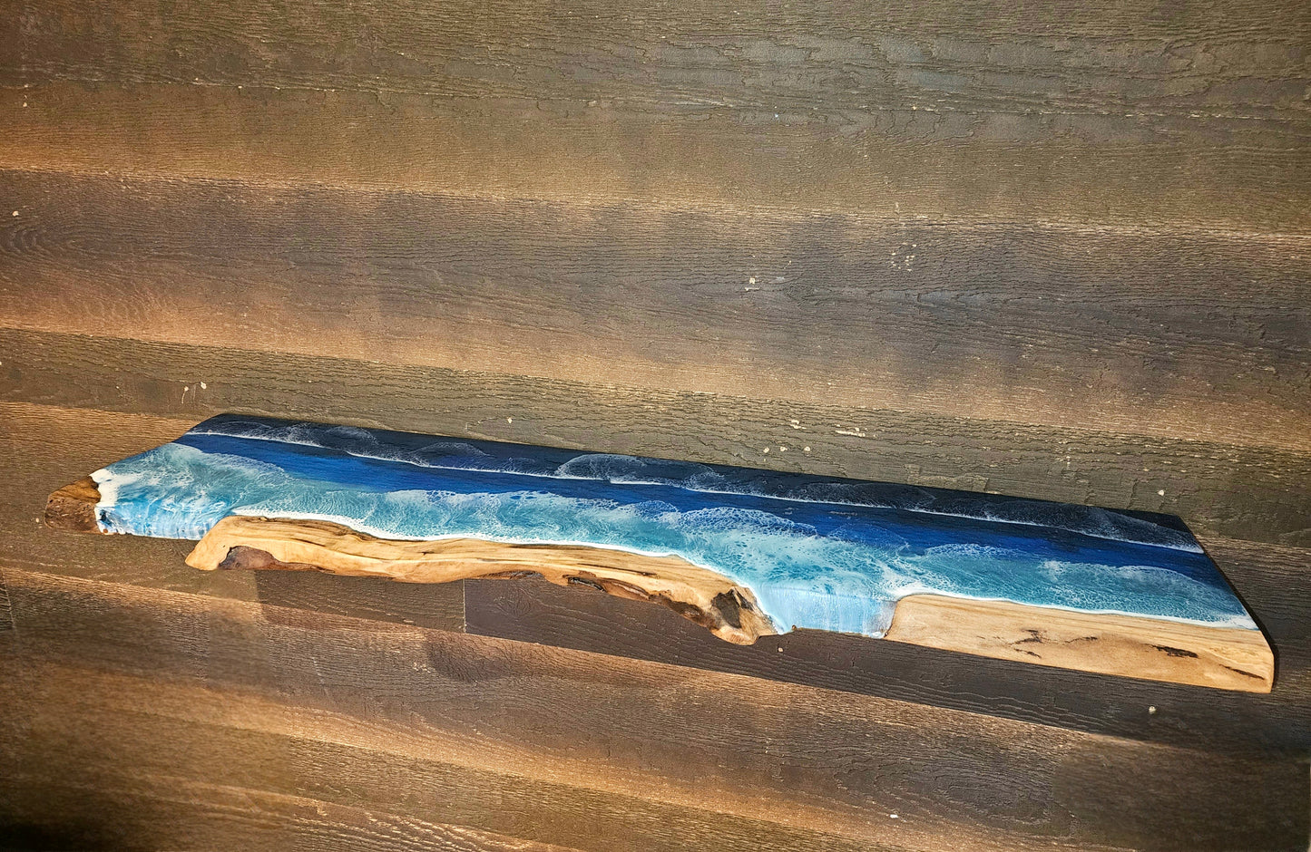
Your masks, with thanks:
M1261 631L1169 516L224 415L60 488L46 524L199 539L206 571L543 577L739 644L826 630L1273 682Z

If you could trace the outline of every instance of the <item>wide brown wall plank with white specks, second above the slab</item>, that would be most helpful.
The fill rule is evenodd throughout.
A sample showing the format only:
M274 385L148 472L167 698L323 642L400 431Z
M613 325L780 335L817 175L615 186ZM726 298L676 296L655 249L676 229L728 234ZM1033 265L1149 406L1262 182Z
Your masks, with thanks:
M0 188L9 326L1311 450L1311 237Z

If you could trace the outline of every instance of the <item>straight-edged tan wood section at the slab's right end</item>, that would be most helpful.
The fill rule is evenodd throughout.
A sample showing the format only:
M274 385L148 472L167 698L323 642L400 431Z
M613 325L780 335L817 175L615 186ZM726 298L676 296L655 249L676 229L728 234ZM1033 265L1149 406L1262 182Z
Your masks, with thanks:
M1078 671L1269 692L1274 654L1259 630L912 594L885 636Z

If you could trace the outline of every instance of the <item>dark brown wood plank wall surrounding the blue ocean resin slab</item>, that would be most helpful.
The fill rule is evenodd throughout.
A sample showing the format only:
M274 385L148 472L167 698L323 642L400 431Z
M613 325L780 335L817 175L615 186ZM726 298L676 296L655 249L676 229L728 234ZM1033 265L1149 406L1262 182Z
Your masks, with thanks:
M1308 48L1291 0L10 3L0 847L1306 848ZM1177 513L1276 690L38 525L220 411Z

